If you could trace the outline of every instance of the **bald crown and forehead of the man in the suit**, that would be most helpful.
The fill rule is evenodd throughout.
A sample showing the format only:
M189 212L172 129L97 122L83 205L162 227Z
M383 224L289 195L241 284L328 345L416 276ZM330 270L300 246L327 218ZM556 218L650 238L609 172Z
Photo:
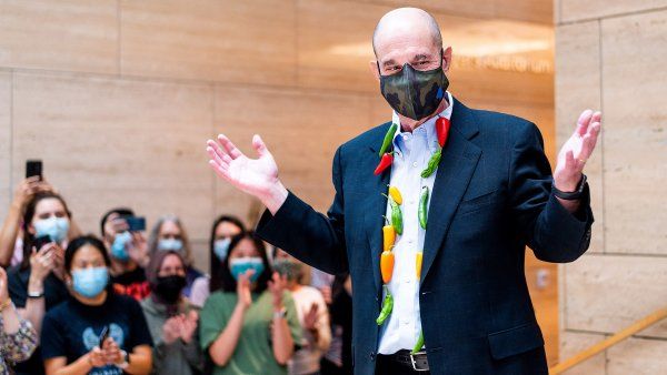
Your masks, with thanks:
M436 19L419 8L399 8L382 16L372 33L372 50L378 53L387 43L407 36L428 38L438 49L442 47L442 36Z

